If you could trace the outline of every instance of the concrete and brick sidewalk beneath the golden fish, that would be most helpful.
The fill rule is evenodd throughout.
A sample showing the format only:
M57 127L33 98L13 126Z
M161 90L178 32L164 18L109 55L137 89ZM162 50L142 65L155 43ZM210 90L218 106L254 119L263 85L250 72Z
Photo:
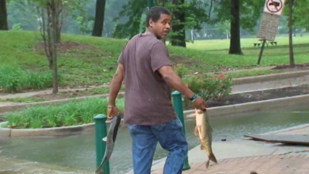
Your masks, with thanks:
M309 136L309 124L265 134L302 134ZM227 142L213 142L212 150L218 159L218 164L210 163L205 152L200 147L194 147L188 152L191 169L183 174L308 174L309 147L288 146L281 143L265 143L248 139ZM152 167L152 174L161 174L165 159Z

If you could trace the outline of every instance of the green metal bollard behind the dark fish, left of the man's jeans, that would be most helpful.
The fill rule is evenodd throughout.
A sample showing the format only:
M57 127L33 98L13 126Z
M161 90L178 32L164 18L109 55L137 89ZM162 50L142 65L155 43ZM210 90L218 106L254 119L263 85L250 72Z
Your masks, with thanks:
M106 142L102 141L102 138L107 136L107 129L106 129L106 123L107 120L106 115L98 114L94 119L94 130L95 130L95 143L96 143L96 160L97 160L97 167L100 166L102 162L103 155L105 153L106 148ZM105 162L105 164L102 167L102 171L104 174L109 174L109 162Z

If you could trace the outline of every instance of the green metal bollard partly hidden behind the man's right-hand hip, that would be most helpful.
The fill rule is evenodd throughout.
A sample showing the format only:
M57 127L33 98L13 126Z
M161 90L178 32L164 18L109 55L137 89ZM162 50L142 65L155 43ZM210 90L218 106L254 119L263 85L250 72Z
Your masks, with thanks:
M183 125L183 134L186 136L186 132L185 132L185 128L184 128L184 119L183 119L183 104L182 104L182 101L181 101L180 92L174 91L172 93L172 101L173 101L174 110L175 110L180 122ZM183 170L189 170L189 169L190 169L190 166L189 166L188 154L187 154L185 162L183 164Z

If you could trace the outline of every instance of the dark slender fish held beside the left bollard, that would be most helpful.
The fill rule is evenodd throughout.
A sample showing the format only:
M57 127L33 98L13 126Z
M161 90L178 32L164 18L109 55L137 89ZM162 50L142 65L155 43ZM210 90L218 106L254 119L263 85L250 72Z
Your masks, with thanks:
M98 173L98 174L104 174L102 172L102 167L103 167L104 163L112 155L112 152L113 152L113 149L114 149L114 145L115 145L115 141L116 141L116 136L117 136L118 128L119 128L119 125L120 125L120 121L121 121L121 114L118 113L112 119L111 126L108 129L104 157L102 158L102 162L101 162L100 166L96 170L96 173Z

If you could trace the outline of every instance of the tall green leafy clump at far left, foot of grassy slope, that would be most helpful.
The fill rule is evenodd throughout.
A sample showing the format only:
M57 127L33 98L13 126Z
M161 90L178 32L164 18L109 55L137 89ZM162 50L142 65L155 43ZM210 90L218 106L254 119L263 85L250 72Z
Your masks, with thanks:
M21 92L23 89L42 89L51 86L52 77L49 72L37 73L19 67L0 66L0 88L6 92Z

